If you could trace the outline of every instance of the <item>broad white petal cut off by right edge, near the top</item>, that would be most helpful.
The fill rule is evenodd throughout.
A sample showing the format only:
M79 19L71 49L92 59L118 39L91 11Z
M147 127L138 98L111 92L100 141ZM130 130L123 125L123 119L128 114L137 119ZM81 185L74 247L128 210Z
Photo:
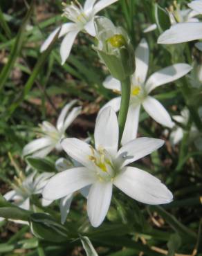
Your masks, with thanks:
M202 22L178 23L158 37L158 44L178 44L202 38Z

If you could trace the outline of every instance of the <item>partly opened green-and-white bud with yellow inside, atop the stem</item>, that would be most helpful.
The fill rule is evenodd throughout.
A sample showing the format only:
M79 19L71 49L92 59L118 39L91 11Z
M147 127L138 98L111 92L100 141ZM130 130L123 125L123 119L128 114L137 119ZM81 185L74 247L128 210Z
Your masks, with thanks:
M93 46L113 77L122 81L135 71L134 48L126 31L104 17L95 19L96 42Z

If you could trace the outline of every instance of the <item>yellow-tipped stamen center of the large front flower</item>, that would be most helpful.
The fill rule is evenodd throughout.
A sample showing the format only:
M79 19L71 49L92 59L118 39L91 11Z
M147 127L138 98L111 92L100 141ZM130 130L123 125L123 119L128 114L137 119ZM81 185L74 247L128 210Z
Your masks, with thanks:
M110 181L115 176L115 170L111 161L111 156L106 149L100 147L98 150L91 147L89 159L95 164L96 174L100 181Z

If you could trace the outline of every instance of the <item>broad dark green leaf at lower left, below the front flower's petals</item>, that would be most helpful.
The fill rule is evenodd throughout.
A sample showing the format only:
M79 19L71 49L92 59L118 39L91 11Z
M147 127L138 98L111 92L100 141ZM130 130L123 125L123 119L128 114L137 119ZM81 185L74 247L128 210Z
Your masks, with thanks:
M53 242L62 242L68 239L67 230L53 217L44 213L33 213L30 215L30 228L39 239Z

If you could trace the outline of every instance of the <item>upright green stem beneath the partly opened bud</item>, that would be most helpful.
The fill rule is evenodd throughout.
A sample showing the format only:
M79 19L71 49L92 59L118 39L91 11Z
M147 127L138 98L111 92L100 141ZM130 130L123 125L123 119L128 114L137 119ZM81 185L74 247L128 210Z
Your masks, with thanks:
M119 126L119 145L122 138L122 134L125 127L125 122L127 119L127 113L129 109L129 101L131 95L131 82L130 78L127 77L121 82L121 102L120 102L120 111L118 114L118 126Z

